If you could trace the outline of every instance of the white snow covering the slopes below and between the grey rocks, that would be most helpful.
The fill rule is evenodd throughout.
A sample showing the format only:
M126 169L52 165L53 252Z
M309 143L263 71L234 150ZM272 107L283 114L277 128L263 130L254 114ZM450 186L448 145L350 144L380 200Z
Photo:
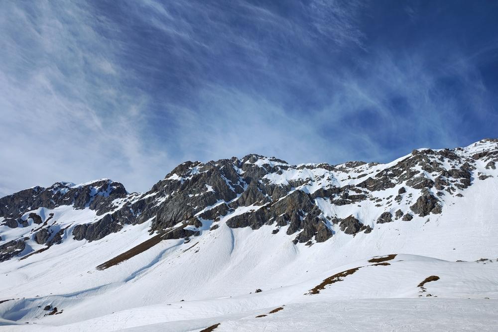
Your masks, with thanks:
M474 143L458 153L477 153L486 144L491 143ZM258 163L281 164L267 158ZM378 164L369 172L394 164ZM231 217L261 208L240 207L217 221L219 228L204 227L188 243L163 240L105 270L96 266L151 237L152 220L125 225L101 240L76 241L68 238L72 229L95 221L95 211L37 209L40 216L53 213L60 229L67 227L65 240L25 259L0 263L0 301L13 299L0 303L0 331L201 331L215 324L220 324L215 332L497 331L498 172L484 164L477 167L493 177L474 181L463 197L445 197L440 215L375 224L385 206L336 206L316 199L325 216L355 215L373 230L352 236L330 225L332 238L305 246L291 242L288 226L276 234L271 233L275 225L228 227ZM312 193L359 183L366 178L355 178L366 169L358 166L349 173L351 179L341 173L330 176L319 165L265 178L275 184L311 179L296 190ZM167 180L174 179L182 178L173 174ZM36 226L28 221L30 228ZM0 245L25 232L1 227ZM42 247L30 239L25 250ZM389 254L396 254L386 261L390 265L369 262ZM308 294L325 279L356 267L361 268L319 294ZM417 287L429 276L439 280L426 283L425 291ZM46 315L47 305L62 313Z

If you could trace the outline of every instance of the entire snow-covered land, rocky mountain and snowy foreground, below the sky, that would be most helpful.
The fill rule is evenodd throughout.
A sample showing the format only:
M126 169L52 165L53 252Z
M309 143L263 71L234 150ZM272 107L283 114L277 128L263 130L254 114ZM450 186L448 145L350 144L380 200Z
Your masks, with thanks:
M388 164L188 161L146 193L20 191L0 199L0 329L493 330L497 163L483 139Z

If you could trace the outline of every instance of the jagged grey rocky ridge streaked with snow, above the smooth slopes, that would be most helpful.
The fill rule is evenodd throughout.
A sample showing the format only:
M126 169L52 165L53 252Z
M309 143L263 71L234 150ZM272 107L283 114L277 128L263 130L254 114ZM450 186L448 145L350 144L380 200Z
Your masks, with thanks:
M484 168L476 171L477 164L484 161ZM370 233L375 224L438 215L445 196L461 197L472 181L493 177L488 171L496 169L497 161L497 139L451 150L415 149L387 164L290 165L258 154L207 163L186 161L144 193L128 193L123 184L109 179L32 187L1 198L0 218L1 224L10 228L41 224L28 235L37 244L57 243L61 234L52 241L51 226L43 228L47 218L42 221L39 214L27 212L72 206L76 210L88 208L96 215L92 222L71 228L75 240L99 240L120 231L124 224L145 221L152 221L151 234L165 233L165 239L190 238L209 231L206 225L216 227L230 216L224 219L232 228L258 229L275 223L273 232L277 232L289 225L287 234L297 234L294 244L312 245L337 231ZM386 190L394 191L385 196ZM373 220L371 216L362 218L354 209L349 216L336 211L366 204L383 209L377 209ZM0 261L24 251L24 242L12 239L10 245L1 245Z

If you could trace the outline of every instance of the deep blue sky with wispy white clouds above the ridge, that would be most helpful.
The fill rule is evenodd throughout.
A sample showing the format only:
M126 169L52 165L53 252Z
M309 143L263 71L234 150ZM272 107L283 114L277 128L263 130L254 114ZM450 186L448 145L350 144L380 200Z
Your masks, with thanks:
M0 10L0 196L186 160L388 162L498 136L498 1L23 1Z

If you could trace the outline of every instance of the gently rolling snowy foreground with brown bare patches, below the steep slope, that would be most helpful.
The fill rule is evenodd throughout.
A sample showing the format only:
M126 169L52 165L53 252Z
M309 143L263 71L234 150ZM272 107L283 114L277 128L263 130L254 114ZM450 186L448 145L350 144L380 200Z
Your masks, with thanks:
M13 320L0 321L0 330L202 331L219 324L214 331L496 331L497 275L496 259L448 262L398 254L259 293L164 301L102 316L91 308L113 303L109 298L119 297L119 288L26 298L11 306L7 301L1 316ZM128 307L139 303L125 299ZM46 316L41 307L48 302L62 314ZM86 319L88 312L94 318Z

